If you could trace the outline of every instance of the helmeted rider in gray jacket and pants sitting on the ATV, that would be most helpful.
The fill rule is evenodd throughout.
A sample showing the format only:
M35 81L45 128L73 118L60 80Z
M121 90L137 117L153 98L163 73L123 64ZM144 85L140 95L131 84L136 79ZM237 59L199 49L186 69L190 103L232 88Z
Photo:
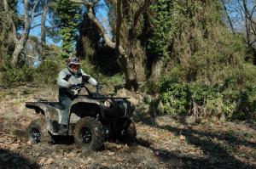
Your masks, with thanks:
M57 79L57 84L59 85L59 101L63 106L60 132L67 132L70 106L73 99L76 99L78 96L84 82L89 82L92 86L100 87L99 82L96 82L94 78L84 73L84 70L80 68L79 58L68 59L67 68L60 71Z

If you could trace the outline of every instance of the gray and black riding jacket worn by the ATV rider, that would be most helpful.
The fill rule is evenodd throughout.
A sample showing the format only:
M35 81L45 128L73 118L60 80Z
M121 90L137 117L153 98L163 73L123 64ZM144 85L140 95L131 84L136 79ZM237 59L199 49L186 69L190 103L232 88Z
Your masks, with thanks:
M84 73L84 70L80 69L77 76L74 76L67 68L60 71L57 84L60 88L66 89L67 93L73 96L77 95L81 90L81 85L85 82L89 82L90 85L96 86L98 82L90 75Z

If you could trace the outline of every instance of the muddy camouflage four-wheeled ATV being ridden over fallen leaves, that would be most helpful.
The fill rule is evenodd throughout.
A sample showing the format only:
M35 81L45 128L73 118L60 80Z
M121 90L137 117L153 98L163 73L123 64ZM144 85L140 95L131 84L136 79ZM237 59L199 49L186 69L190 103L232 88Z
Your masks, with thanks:
M136 127L131 119L135 106L127 99L107 97L96 92L79 95L73 100L69 111L68 132L81 149L100 149L104 141L123 140L132 143L136 140ZM33 144L54 142L60 131L63 107L59 102L40 100L26 102L26 108L36 111L40 118L27 127L27 138Z

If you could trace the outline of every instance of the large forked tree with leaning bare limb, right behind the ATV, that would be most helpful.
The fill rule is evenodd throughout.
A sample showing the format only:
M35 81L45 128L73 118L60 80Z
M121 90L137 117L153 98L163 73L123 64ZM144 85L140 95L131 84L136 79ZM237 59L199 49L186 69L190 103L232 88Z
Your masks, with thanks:
M143 63L143 59L140 58L139 54L137 54L137 60L135 59L135 48L136 45L140 45L139 43L136 43L135 38L135 31L137 28L137 23L142 16L143 12L148 8L149 1L145 0L143 1L143 4L138 3L137 1L137 7L138 8L130 8L129 3L130 1L108 1L108 3L112 3L114 8L116 8L116 21L115 21L115 27L113 29L113 37L114 39L111 39L109 37L108 32L102 25L102 23L96 19L95 15L95 8L96 4L99 3L99 0L95 1L88 1L88 0L70 0L73 3L82 3L84 4L84 7L86 8L87 16L91 20L91 22L96 25L97 30L102 35L102 38L104 39L104 42L108 46L108 48L113 48L116 50L117 54L119 55L119 65L123 72L125 73L125 87L131 89L138 89L138 78L137 76L143 76L145 78L145 66L142 64L140 68L142 68L143 72L138 72L140 69L137 69L138 63ZM140 1L141 2L141 1ZM125 19L125 8L128 8L130 15L126 13L127 18L131 20L129 24L127 24L127 20ZM125 23L126 21L126 23ZM125 25L123 25L125 23ZM141 30L140 30L141 31ZM125 35L125 36L124 36ZM127 42L128 40L128 42ZM142 50L143 53L145 53L145 49ZM145 56L145 54L142 54ZM143 79L142 78L142 79Z

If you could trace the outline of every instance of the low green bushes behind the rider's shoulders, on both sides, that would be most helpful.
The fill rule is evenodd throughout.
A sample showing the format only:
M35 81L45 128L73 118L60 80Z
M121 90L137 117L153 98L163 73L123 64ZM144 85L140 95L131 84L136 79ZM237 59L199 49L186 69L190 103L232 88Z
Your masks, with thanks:
M38 68L23 66L22 68L1 67L0 82L3 86L17 86L20 84L46 84L56 85L56 79L61 69L66 67L66 63L58 61L45 60ZM90 76L96 78L102 85L122 85L124 84L124 76L115 74L113 76L104 76L90 62L82 61L81 67Z

